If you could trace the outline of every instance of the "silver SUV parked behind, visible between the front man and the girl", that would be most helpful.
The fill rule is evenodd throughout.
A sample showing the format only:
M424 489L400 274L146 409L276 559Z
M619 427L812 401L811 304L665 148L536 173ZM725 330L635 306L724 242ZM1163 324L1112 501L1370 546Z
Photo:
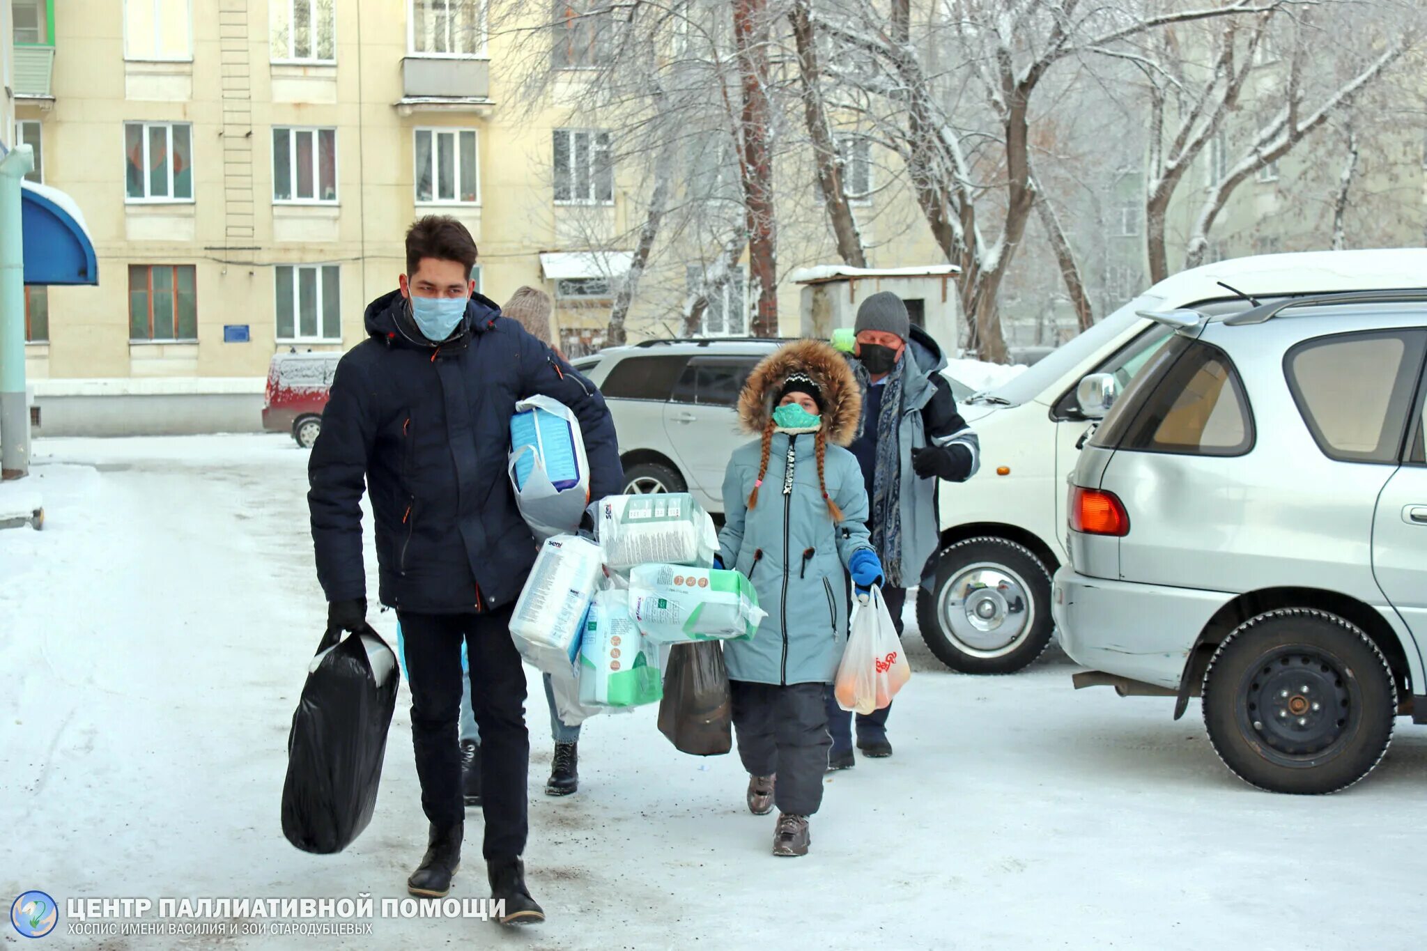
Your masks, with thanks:
M574 361L605 395L625 492L692 492L723 510L723 471L749 441L738 429L748 374L781 339L655 339Z

